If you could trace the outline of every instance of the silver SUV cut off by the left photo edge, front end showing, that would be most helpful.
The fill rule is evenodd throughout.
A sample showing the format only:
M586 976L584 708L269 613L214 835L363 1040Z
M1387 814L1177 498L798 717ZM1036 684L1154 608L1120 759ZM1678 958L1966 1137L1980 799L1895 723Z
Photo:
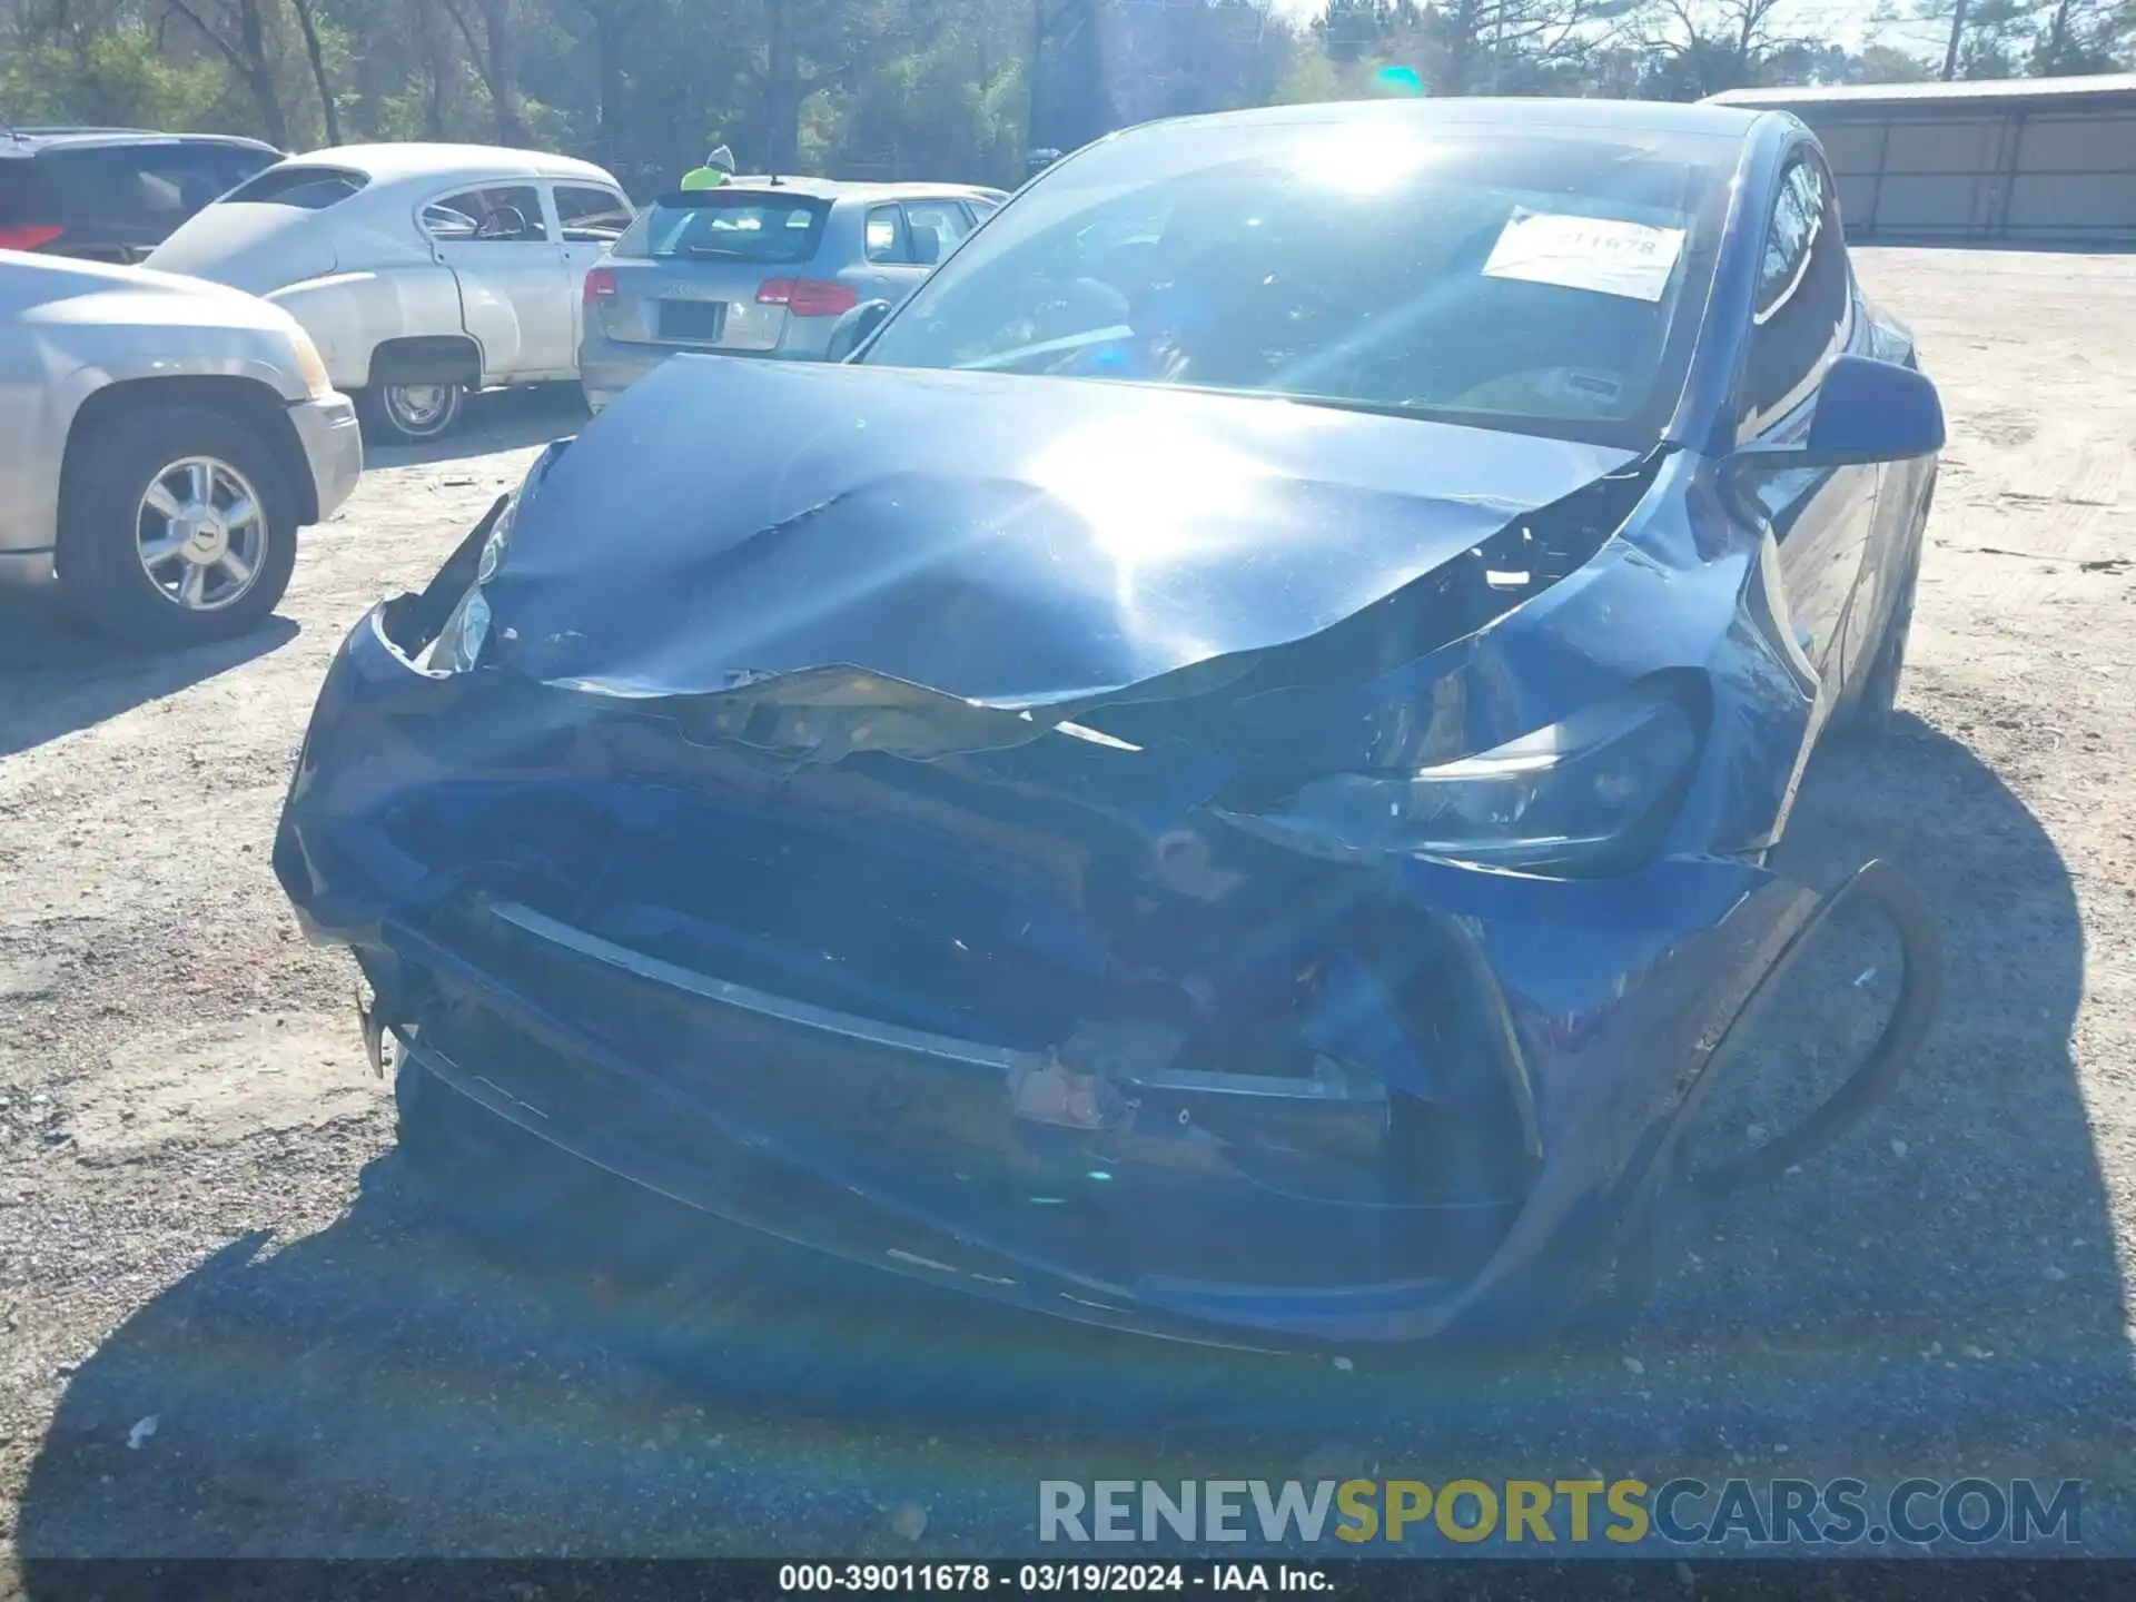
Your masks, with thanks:
M355 408L288 312L0 250L0 585L56 581L139 645L241 634L361 472Z

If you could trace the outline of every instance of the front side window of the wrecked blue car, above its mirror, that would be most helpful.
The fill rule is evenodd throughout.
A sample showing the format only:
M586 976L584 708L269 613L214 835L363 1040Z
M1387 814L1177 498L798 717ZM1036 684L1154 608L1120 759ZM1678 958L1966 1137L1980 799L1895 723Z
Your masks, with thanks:
M1756 438L1809 399L1852 333L1854 282L1839 199L1824 162L1803 154L1779 184L1758 261L1737 438Z

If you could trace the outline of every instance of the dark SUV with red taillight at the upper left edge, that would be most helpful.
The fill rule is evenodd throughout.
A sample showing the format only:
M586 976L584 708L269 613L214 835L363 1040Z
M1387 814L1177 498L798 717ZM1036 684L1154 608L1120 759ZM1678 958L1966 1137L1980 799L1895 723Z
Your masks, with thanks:
M256 139L0 124L0 250L141 261L282 152Z

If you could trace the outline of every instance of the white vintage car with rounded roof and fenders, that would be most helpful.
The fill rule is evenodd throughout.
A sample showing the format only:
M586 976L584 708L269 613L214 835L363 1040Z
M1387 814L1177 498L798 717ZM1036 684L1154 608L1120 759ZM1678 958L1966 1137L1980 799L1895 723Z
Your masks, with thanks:
M436 440L474 389L579 378L585 271L630 218L568 156L344 145L239 184L147 265L284 308L376 436Z

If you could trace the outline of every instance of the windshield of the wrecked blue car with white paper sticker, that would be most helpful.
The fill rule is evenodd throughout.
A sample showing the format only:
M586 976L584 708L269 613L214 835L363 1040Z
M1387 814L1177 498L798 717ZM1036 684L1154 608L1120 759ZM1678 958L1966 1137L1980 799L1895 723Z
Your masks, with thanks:
M1047 171L865 361L1645 449L1683 389L1730 171L1681 135L1158 124Z

